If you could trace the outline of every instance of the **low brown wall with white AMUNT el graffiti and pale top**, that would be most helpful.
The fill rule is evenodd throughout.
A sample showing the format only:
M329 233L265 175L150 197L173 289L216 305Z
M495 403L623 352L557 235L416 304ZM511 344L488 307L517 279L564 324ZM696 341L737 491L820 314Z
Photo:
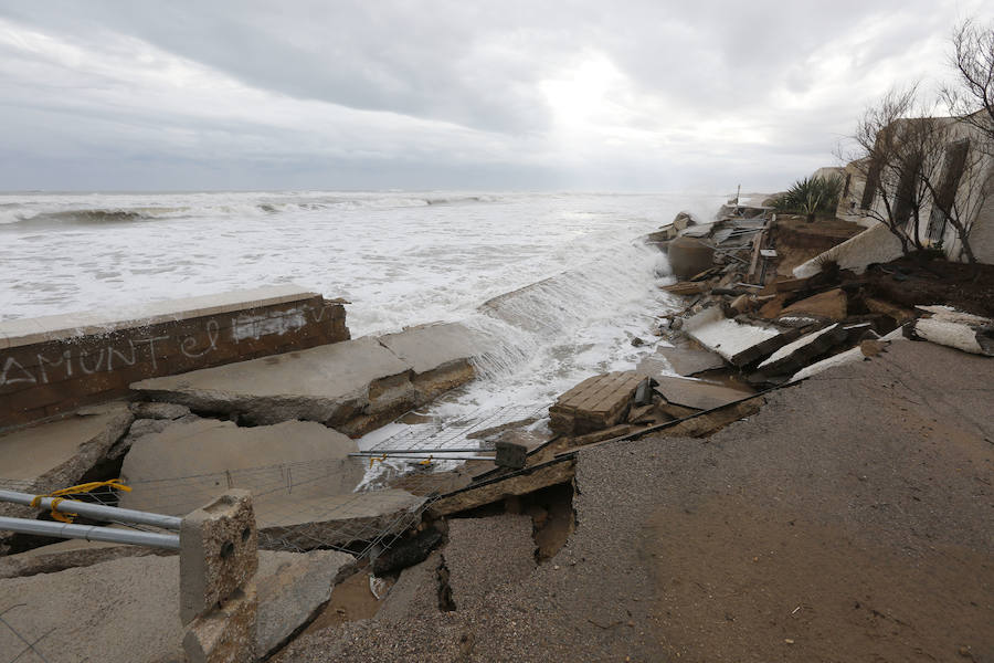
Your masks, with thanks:
M0 429L128 393L145 378L348 340L340 301L292 286L0 323Z

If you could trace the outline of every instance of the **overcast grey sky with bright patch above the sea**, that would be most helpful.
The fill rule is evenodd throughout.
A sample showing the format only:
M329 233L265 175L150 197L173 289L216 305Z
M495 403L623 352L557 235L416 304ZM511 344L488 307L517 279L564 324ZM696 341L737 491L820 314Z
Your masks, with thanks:
M782 189L974 0L6 0L0 190Z

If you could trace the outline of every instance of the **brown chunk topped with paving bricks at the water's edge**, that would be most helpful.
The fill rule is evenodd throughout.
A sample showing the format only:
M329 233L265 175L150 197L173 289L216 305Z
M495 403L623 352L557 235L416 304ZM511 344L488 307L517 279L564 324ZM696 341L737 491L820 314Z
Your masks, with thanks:
M577 435L615 425L624 419L635 390L644 380L636 371L588 378L549 408L549 428L565 435Z

